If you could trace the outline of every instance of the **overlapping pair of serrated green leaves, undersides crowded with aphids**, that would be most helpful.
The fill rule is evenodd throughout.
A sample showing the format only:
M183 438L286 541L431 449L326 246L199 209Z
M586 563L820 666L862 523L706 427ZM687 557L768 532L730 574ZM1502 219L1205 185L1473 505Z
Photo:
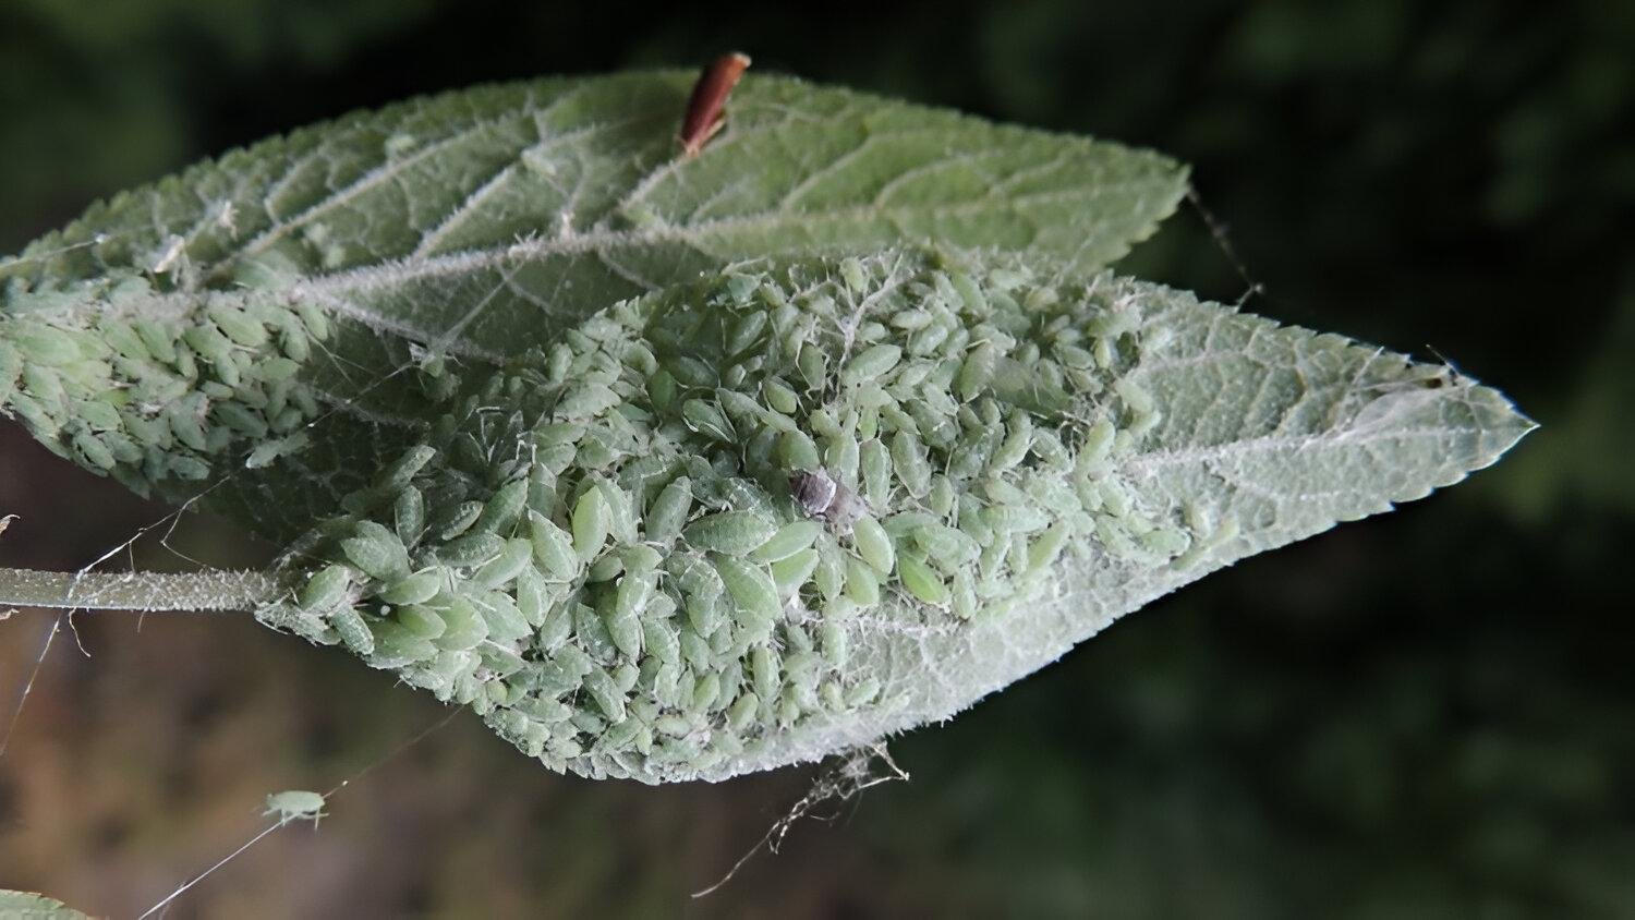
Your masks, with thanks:
M263 623L643 781L947 717L1530 428L1100 273L1184 193L1159 155L750 77L677 159L688 82L417 100L96 206L0 261L0 405L214 484L289 547Z

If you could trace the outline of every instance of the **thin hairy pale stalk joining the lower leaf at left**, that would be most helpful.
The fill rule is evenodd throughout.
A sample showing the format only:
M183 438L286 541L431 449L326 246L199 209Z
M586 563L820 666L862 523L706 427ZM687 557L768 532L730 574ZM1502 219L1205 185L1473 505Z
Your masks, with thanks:
M253 610L289 585L271 572L39 572L0 569L0 606Z

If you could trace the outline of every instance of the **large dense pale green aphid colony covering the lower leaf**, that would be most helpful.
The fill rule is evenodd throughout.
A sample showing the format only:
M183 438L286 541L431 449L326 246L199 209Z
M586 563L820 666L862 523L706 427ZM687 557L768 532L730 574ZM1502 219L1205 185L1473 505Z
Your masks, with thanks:
M718 775L898 704L853 654L865 621L958 629L1069 554L1189 551L1115 476L1158 423L1113 384L1136 319L912 255L616 304L481 382L425 373L446 413L298 543L311 574L258 616L556 770Z

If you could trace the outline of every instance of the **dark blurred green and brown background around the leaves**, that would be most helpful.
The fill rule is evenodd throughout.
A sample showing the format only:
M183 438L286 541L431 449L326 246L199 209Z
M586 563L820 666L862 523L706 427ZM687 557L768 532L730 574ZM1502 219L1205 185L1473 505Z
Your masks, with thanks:
M443 709L247 618L80 616L0 758L0 887L134 915L265 793L381 761L170 915L1635 913L1635 3L0 0L0 252L356 106L726 49L1174 154L1248 309L1445 355L1543 428L894 742L911 783L700 902L809 770L590 783L469 714L381 761ZM1190 208L1123 268L1244 293ZM5 422L0 513L0 562L74 569L164 510ZM49 624L0 624L0 717Z

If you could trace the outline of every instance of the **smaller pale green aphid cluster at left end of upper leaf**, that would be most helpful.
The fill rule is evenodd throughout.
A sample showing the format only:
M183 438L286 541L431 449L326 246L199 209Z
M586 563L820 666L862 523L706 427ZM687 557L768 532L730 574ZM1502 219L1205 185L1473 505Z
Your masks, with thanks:
M142 276L96 288L100 312L51 309L83 291L7 291L0 409L43 444L141 495L185 493L250 441L250 467L306 444L319 405L298 373L330 335L322 310L208 293L168 315Z

